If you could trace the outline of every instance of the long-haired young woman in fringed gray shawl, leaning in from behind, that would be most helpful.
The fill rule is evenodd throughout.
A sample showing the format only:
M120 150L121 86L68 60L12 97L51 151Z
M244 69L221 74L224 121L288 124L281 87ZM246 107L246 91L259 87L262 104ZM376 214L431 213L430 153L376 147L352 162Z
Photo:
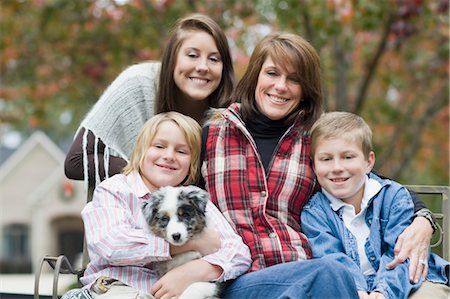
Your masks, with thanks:
M139 129L151 116L175 110L202 122L209 107L227 106L233 87L223 30L204 15L180 19L161 64L127 68L86 115L66 156L66 176L97 185L126 165Z

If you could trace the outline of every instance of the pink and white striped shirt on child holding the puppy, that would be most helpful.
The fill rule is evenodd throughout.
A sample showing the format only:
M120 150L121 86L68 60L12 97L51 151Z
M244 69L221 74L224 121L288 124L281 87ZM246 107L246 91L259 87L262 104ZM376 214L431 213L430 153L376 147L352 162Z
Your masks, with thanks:
M106 276L150 293L158 280L152 263L171 257L169 244L149 231L141 213L142 202L149 197L137 173L117 174L97 186L92 202L81 213L90 257L81 278L85 287ZM211 202L206 211L213 214L222 248L202 259L222 267L220 281L236 278L250 266L248 247Z

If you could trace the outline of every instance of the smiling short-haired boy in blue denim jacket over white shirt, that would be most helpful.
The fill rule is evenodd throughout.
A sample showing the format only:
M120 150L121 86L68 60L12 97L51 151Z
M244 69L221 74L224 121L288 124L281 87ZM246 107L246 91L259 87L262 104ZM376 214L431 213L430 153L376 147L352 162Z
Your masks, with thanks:
M311 158L322 190L301 223L313 257L333 254L353 273L360 298L407 298L422 281L410 282L408 260L392 270L386 264L411 222L413 202L405 187L371 173L369 126L352 113L325 113L311 129ZM449 263L431 253L428 266L427 283L441 284L442 298L450 298Z

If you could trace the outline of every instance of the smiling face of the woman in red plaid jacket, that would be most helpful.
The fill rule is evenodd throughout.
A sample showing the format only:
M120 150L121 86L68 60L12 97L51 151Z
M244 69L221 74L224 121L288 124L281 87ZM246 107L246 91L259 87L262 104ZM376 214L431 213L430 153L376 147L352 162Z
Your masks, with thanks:
M270 57L263 63L256 84L259 111L272 120L289 115L300 103L302 87L292 66L276 65Z

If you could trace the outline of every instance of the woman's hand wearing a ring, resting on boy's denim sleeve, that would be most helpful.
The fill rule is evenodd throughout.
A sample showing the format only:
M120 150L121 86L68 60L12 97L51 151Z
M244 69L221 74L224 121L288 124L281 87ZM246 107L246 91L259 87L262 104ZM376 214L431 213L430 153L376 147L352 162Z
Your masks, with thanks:
M393 269L409 258L409 280L417 283L421 276L428 274L428 246L433 236L433 228L424 217L416 217L403 233L398 237L395 244L395 258L386 265Z

